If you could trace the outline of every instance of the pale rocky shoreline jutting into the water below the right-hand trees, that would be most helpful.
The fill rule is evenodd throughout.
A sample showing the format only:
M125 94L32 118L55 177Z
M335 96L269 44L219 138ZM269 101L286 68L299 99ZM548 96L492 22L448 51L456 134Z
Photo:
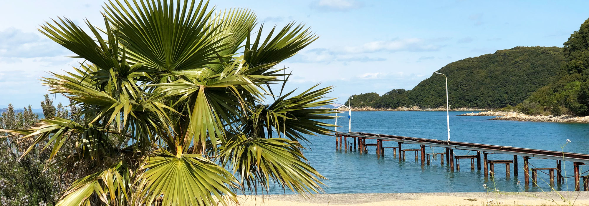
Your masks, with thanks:
M459 114L457 116L495 116L491 119L511 120L511 121L530 121L530 122L566 122L566 123L589 123L589 116L574 117L571 115L527 115L522 112L504 112L504 111L483 111Z

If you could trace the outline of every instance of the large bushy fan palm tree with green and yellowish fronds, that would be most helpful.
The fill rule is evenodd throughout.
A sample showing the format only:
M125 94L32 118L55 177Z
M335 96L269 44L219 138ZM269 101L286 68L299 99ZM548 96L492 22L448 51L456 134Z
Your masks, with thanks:
M42 79L80 109L4 130L30 145L22 156L51 149L48 167L78 177L57 205L227 205L270 185L322 191L300 142L331 132L332 111L316 108L333 101L331 87L283 94L290 74L276 67L315 41L309 28L263 35L252 11L196 0L115 0L102 14L104 28L59 18L39 29L82 59Z

